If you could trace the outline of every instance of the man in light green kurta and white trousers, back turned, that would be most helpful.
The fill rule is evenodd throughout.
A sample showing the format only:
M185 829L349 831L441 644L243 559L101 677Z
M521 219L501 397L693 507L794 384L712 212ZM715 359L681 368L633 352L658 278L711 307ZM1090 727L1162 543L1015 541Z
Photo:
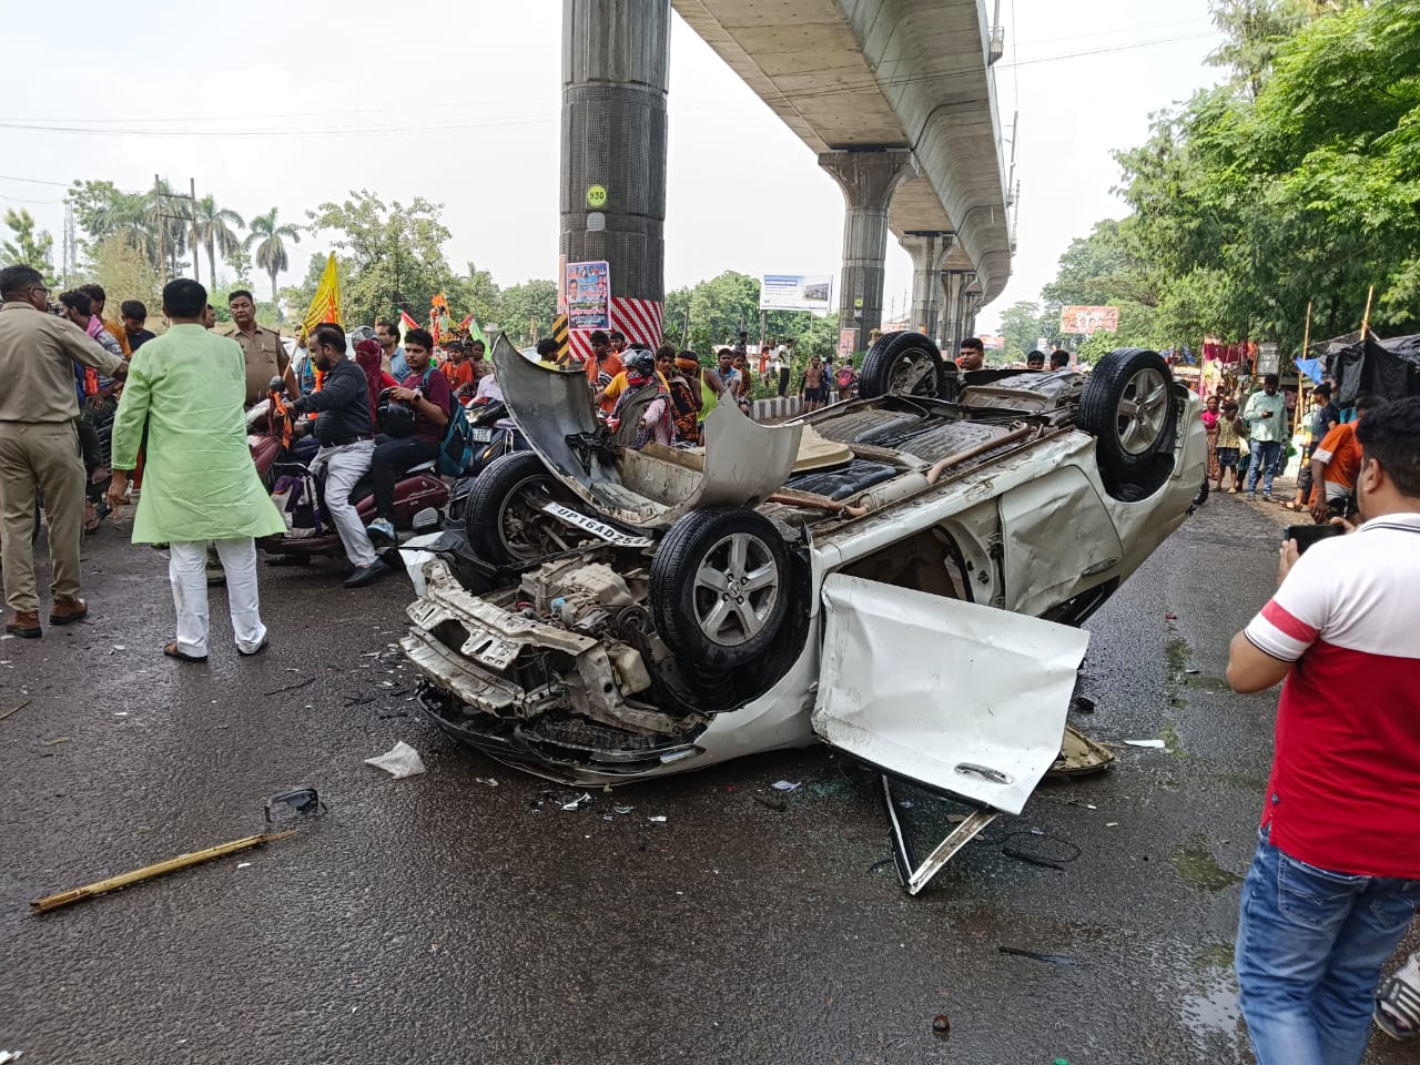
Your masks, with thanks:
M168 544L168 579L178 612L169 657L207 657L207 542L216 544L227 575L227 599L237 650L257 655L267 645L257 594L256 537L285 531L247 449L246 359L236 341L202 327L207 290L170 281L163 312L172 328L133 352L128 383L114 417L116 511L138 464L143 427L148 447L143 490L133 520L135 544Z

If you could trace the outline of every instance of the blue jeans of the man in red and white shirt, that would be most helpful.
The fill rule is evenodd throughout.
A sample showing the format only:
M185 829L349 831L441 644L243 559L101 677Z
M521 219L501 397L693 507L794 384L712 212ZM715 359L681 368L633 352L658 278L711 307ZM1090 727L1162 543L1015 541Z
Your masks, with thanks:
M1417 903L1420 880L1318 869L1260 834L1234 958L1258 1065L1359 1065L1380 967Z

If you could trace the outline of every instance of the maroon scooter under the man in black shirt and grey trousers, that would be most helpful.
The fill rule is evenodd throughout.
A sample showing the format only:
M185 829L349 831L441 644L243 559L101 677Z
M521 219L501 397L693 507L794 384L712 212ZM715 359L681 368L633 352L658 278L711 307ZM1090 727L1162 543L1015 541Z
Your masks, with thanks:
M344 558L345 547L325 511L324 480L311 474L310 463L320 450L320 444L308 436L314 423L291 413L283 398L284 390L281 379L273 378L264 429L256 410L247 420L251 460L288 525L283 535L257 540L257 547L290 564L305 564L320 557ZM362 524L368 525L375 520L375 481L369 474L355 483L351 501L355 503ZM432 531L436 524L443 523L447 506L449 486L433 462L406 470L395 483L395 528L400 532ZM430 521L435 514L422 514L423 511L433 511L437 521ZM417 530L415 515L420 515ZM398 544L392 544L381 554L388 555L386 561L398 564Z

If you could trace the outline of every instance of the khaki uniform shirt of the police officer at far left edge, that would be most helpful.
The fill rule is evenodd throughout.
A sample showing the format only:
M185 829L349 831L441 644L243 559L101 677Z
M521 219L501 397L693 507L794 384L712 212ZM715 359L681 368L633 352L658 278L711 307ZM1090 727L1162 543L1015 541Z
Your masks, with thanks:
M0 308L0 422L72 422L80 416L74 366L114 376L124 359L109 355L67 318L31 304Z

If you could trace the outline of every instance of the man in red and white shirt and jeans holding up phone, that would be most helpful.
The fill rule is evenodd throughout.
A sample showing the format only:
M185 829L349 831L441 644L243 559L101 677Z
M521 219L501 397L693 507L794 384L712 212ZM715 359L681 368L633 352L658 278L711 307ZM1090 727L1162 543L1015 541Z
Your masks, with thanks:
M1285 679L1237 971L1258 1065L1360 1062L1380 966L1420 903L1420 398L1356 427L1363 524L1299 557L1233 638Z

